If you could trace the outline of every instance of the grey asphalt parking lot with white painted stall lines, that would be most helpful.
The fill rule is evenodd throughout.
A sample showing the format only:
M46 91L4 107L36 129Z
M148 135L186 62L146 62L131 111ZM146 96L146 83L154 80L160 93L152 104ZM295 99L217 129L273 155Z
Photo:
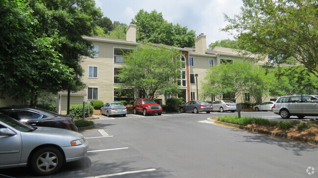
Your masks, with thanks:
M111 118L100 116L100 119L94 120L98 125L96 128L81 132L90 143L87 157L69 162L60 173L43 178L205 178L211 177L212 174L215 177L240 177L237 175L238 169L238 172L246 171L245 165L241 165L243 159L250 159L245 164L252 167L256 163L262 164L264 169L271 169L272 164L282 166L278 160L277 163L271 161L270 165L267 165L266 161L259 163L263 159L257 159L259 157L257 150L262 150L264 146L273 159L283 156L286 161L294 162L293 165L298 164L299 169L307 166L307 163L304 163L306 161L315 162L317 146L300 148L296 143L278 138L201 123L206 118L222 115L237 115L237 112L165 113L161 116L154 114L146 117L133 114ZM242 112L241 115L286 120L280 119L280 116L273 112ZM262 141L255 145L258 143L255 140ZM284 145L284 149L280 150L281 146L276 147L276 145ZM233 146L236 148L231 149ZM285 158L286 151L290 152L289 149L291 149L291 158ZM273 154L273 151L277 151L278 155ZM224 152L231 154L224 155L222 154ZM234 156L232 152L237 152L238 155ZM267 154L267 151L264 152ZM293 154L295 152L297 154ZM299 158L299 155L304 155L304 160ZM233 160L233 157L239 158ZM315 167L315 164L311 166ZM225 175L222 173L223 169L229 169L229 173ZM302 173L298 173L297 169L295 171L291 171L290 175L301 177ZM249 177L248 175L256 177L258 172L259 170L255 170L251 174L242 174L241 177ZM265 172L264 170L264 174ZM1 169L0 174L15 178L34 177L28 168ZM283 175L277 173L269 176Z

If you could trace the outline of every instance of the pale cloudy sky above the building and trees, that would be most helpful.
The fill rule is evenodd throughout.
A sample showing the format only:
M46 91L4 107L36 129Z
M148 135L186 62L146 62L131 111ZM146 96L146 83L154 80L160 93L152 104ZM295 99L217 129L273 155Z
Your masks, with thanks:
M112 21L129 24L140 9L156 10L168 22L179 23L196 36L206 35L209 45L217 40L233 40L231 35L221 32L227 24L224 14L233 17L240 13L241 0L95 0L104 16Z

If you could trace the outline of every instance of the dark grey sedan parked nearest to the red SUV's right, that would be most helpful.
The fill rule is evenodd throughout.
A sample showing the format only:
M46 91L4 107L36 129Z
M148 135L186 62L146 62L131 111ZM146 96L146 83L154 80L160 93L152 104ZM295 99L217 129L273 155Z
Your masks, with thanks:
M180 112L181 113L192 112L195 114L198 114L199 112L210 113L212 109L213 107L210 103L194 100L194 101L189 101L185 103L184 105L182 105L180 107Z

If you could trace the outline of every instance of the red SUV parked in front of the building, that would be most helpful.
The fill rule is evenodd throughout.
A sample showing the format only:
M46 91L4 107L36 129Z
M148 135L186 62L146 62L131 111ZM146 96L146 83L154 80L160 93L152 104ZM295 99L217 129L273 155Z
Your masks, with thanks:
M148 113L157 113L158 116L162 113L162 108L154 99L136 99L134 102L134 114L142 112L144 116Z

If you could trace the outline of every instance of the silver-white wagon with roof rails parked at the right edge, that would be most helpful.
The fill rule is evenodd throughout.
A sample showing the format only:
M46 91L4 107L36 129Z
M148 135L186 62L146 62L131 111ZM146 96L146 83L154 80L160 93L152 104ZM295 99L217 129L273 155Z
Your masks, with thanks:
M297 116L318 116L318 95L293 95L279 97L273 107L273 112L283 119Z

